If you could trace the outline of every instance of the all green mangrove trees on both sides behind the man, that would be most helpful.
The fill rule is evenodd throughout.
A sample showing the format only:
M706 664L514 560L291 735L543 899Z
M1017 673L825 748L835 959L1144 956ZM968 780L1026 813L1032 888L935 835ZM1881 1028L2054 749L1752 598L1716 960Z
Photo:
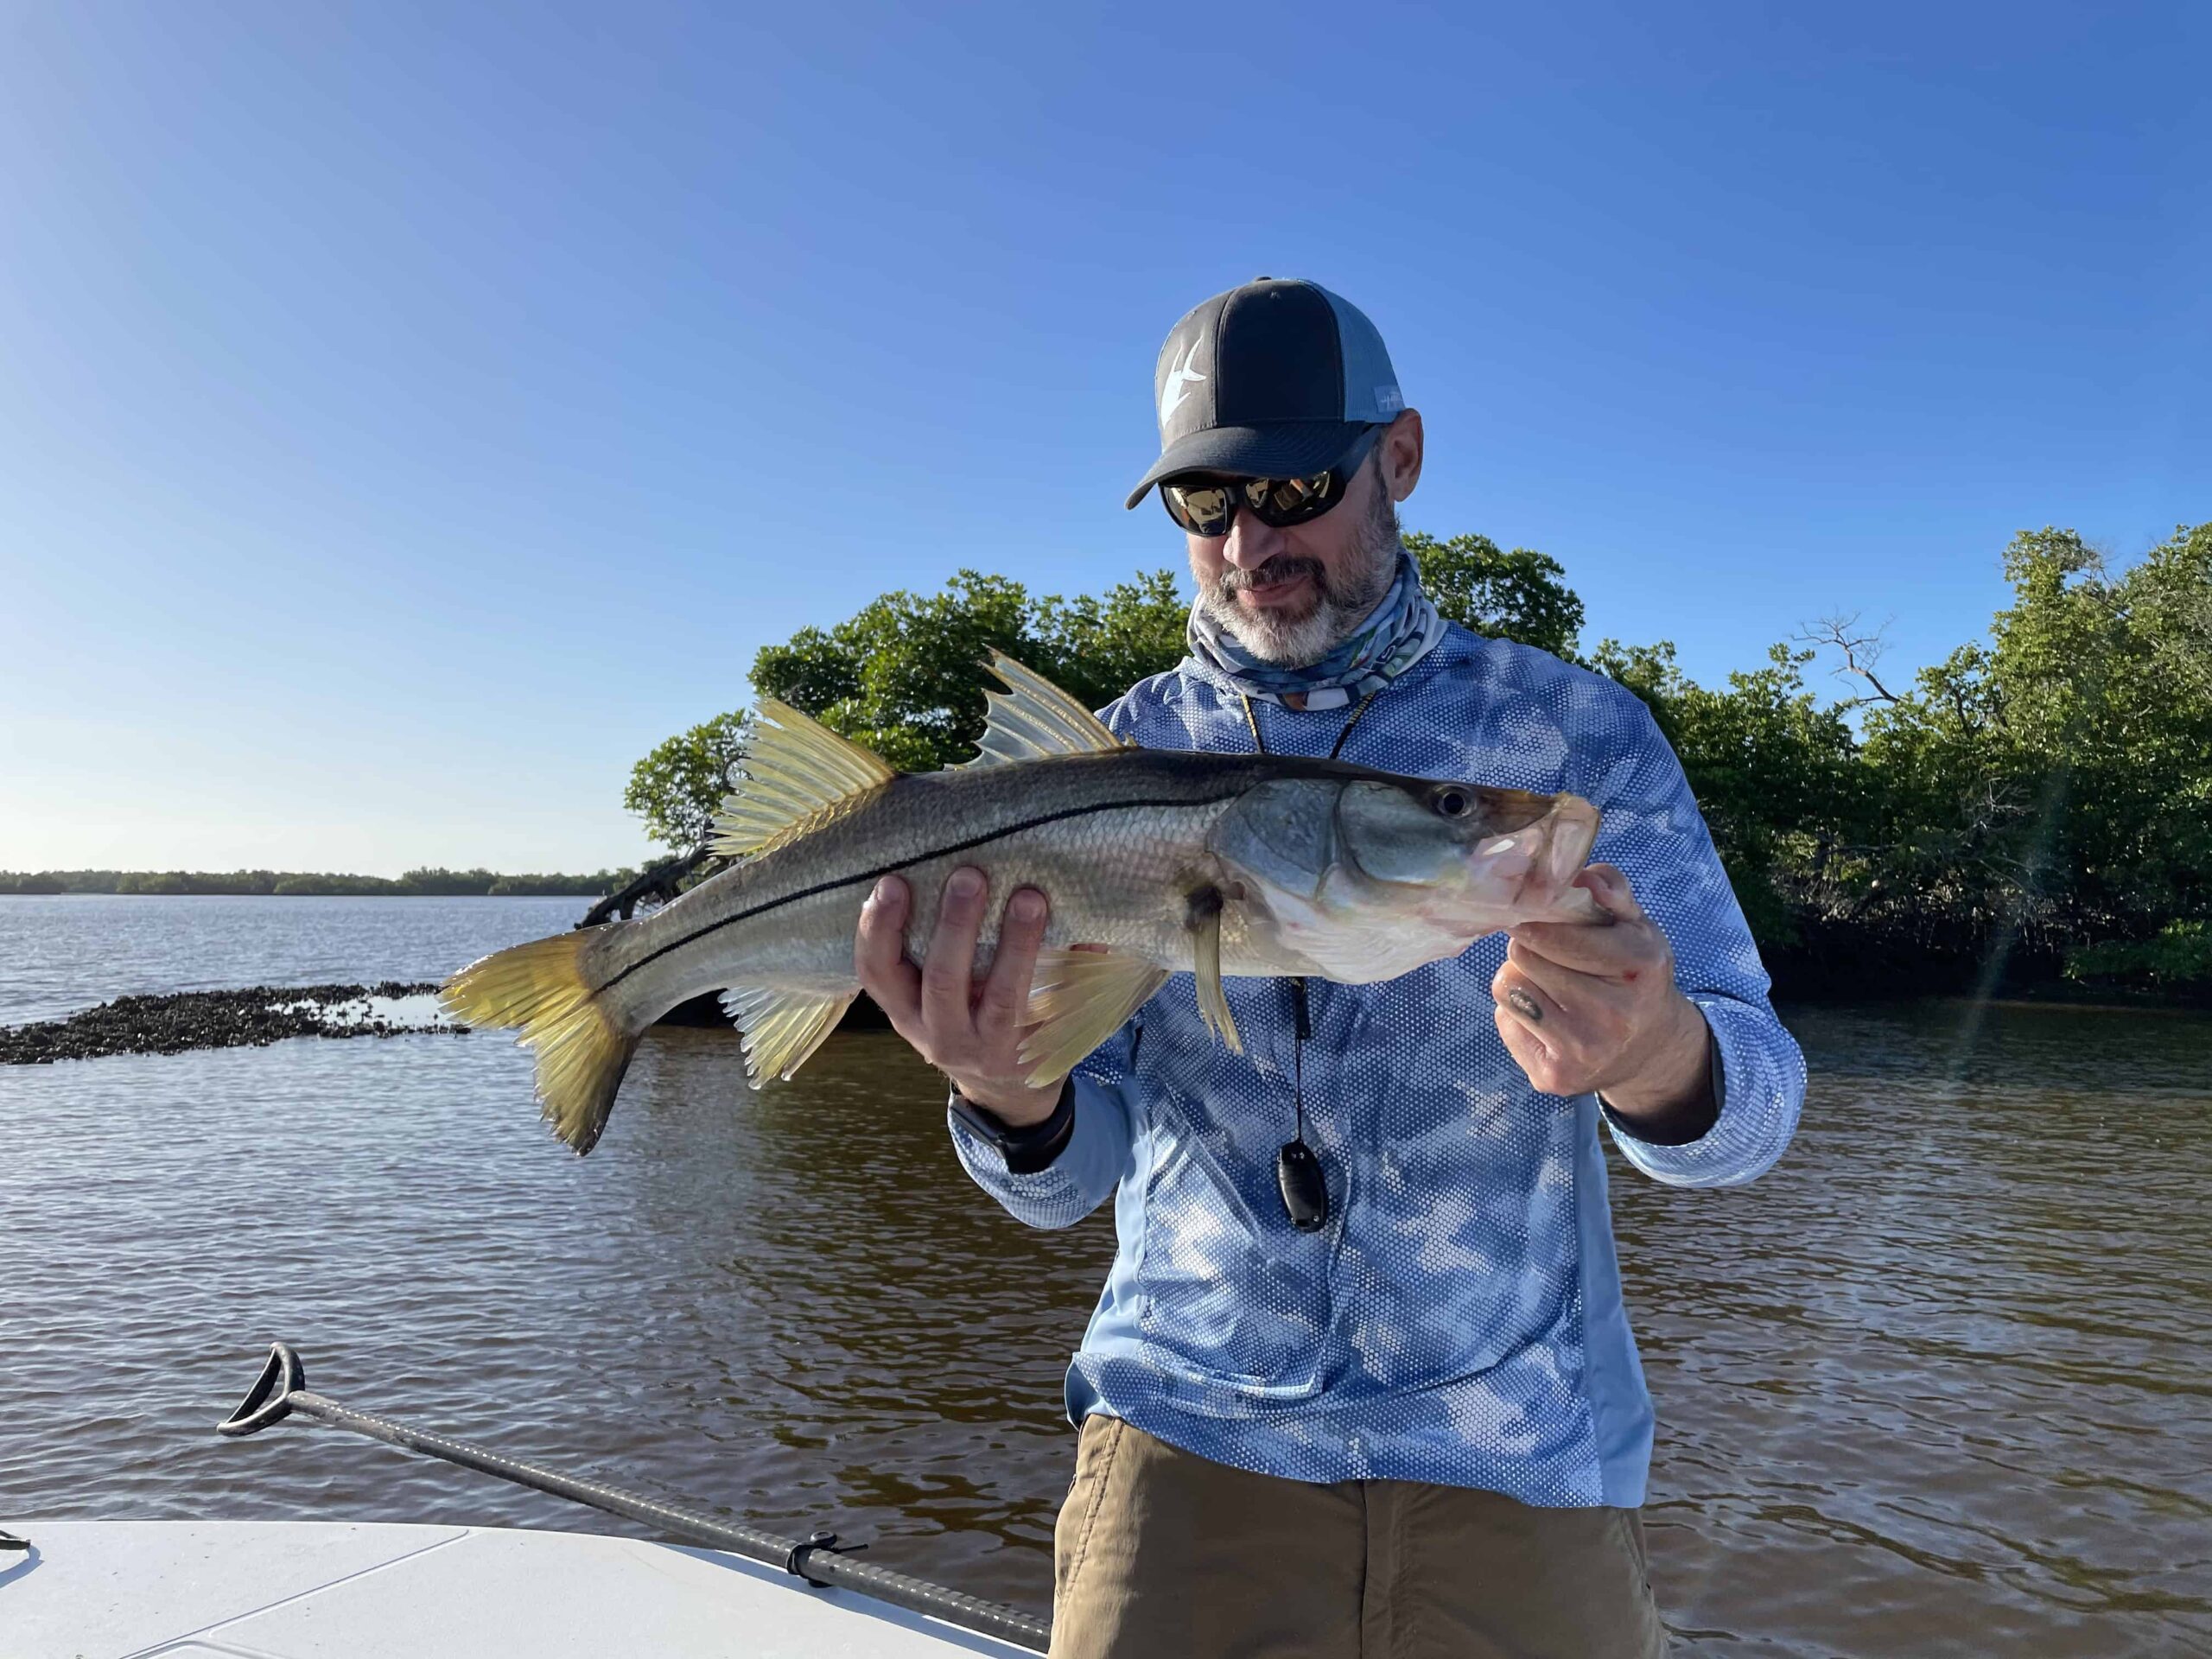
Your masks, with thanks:
M1575 659L1584 608L1555 560L1482 535L1413 533L1407 549L1453 622ZM1783 644L1717 688L1666 641L1593 653L1681 757L1770 960L1851 964L1876 984L1907 962L2002 953L2161 984L2197 971L2212 918L2212 524L2119 575L2073 531L2024 531L2004 573L2013 602L1989 637L1900 690L1843 626L1829 644L1865 681L1843 701L1807 688L1814 650ZM989 648L1095 708L1175 666L1183 617L1168 571L1075 599L962 571L761 650L752 679L927 770L973 752ZM666 845L697 845L741 741L741 714L670 739L626 805Z

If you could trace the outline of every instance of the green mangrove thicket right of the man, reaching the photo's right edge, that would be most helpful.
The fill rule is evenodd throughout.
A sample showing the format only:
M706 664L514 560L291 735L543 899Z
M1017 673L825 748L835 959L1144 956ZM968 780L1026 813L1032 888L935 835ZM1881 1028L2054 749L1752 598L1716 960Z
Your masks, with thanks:
M1708 692L1668 646L1599 646L1674 743L1763 945L2090 973L2172 962L2161 929L2212 914L2212 524L2121 575L2073 531L2022 531L2004 573L1986 644L1902 692L1860 664L1867 695L1827 710L1809 653Z

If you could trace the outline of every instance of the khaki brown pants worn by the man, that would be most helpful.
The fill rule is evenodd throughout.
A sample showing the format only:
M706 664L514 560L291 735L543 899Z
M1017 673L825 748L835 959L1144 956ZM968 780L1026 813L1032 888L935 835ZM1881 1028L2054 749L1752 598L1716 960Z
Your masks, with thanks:
M1314 1486L1084 1420L1053 1659L1663 1659L1632 1509Z

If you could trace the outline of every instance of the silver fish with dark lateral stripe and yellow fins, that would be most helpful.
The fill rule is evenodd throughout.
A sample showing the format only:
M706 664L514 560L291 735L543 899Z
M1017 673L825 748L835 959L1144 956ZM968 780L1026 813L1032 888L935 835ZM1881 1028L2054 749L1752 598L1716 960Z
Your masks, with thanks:
M544 1119L588 1152L646 1029L719 991L754 1088L790 1077L860 993L854 929L883 876L914 891L920 964L945 878L1037 887L1048 925L1020 1057L1068 1075L1175 973L1232 1051L1223 978L1389 980L1531 920L1608 922L1575 887L1599 814L1575 794L1285 754L1137 748L1004 653L984 664L973 761L896 772L776 699L759 701L710 847L728 869L635 920L498 951L453 973L460 1024L513 1029ZM975 971L998 942L993 914Z

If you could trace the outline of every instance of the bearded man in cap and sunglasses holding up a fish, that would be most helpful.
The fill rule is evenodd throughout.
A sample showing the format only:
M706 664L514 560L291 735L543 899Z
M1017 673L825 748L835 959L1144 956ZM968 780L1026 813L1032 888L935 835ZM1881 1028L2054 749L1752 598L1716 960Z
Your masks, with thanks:
M1674 1186L1765 1170L1805 1066L1681 765L1608 679L1438 619L1398 542L1422 425L1374 325L1259 279L1168 334L1155 484L1190 546L1190 655L1104 710L1152 748L1343 754L1571 790L1610 927L1526 925L1383 984L1230 980L1243 1053L1170 982L1035 1091L1015 1057L1044 898L869 898L860 980L953 1082L1009 1212L1115 1199L1068 1369L1082 1429L1053 1652L1641 1659L1652 1409L1621 1307L1599 1121ZM1303 1148L1303 1150L1294 1150ZM1298 1172L1287 1166L1298 1164Z

